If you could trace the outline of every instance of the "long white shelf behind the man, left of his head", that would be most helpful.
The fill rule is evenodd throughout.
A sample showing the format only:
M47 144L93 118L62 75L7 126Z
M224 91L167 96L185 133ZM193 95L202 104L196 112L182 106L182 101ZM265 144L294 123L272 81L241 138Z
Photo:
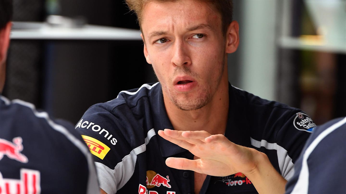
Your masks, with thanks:
M39 40L142 40L139 30L85 25L51 27L44 22L13 22L11 39Z

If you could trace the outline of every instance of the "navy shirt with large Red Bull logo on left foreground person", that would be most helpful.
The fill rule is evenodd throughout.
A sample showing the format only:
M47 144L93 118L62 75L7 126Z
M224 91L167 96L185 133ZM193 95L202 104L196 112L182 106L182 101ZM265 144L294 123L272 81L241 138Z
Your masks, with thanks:
M71 124L0 96L0 193L100 193L92 159Z

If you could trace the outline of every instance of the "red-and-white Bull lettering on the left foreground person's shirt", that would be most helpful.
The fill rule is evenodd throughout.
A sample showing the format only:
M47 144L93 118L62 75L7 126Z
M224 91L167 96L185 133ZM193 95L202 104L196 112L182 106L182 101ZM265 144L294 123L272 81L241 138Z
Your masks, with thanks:
M30 169L20 169L20 179L3 178L0 172L0 194L22 193L39 194L40 172Z

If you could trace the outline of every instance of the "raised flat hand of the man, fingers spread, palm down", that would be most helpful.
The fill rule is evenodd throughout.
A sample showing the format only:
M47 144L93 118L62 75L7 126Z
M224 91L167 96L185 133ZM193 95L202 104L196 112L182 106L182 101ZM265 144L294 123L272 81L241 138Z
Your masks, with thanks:
M166 159L167 166L212 176L228 176L238 172L247 175L256 168L258 155L263 154L234 144L224 135L211 135L206 131L165 129L158 134L199 157L195 160L170 157Z

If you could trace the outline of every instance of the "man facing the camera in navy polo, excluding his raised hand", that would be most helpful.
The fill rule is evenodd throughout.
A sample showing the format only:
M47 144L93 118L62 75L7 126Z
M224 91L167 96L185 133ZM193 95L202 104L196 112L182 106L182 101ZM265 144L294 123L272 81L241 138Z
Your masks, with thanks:
M90 107L76 125L95 155L101 191L282 193L315 124L299 109L229 84L227 54L239 45L232 2L126 2L137 14L145 58L160 82ZM198 157L156 135L165 128L225 134L237 144L239 164L224 177L169 168L167 157Z

